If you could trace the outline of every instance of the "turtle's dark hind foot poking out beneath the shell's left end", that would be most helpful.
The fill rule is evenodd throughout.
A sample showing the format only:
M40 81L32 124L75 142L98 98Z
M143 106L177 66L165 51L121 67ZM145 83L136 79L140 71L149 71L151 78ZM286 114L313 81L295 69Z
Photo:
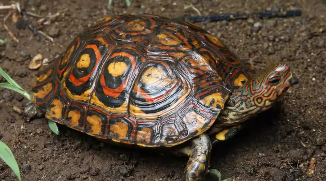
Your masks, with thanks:
M45 111L40 109L36 104L31 101L25 102L22 105L22 116L26 121L30 121L32 119L37 119L44 117Z

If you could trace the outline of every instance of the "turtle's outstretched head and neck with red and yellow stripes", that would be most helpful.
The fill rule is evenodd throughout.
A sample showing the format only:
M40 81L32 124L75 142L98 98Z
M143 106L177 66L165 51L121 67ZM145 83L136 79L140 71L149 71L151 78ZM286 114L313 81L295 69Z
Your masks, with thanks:
M266 68L232 92L220 113L220 122L234 125L270 109L291 87L293 80L290 67L286 64Z

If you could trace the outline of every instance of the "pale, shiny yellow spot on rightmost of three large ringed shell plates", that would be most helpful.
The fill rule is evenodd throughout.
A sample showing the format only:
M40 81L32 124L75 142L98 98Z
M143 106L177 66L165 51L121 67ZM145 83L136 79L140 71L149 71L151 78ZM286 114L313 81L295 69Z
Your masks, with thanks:
M166 86L171 83L171 79L166 75L162 69L151 67L145 70L142 75L142 82L152 86Z

